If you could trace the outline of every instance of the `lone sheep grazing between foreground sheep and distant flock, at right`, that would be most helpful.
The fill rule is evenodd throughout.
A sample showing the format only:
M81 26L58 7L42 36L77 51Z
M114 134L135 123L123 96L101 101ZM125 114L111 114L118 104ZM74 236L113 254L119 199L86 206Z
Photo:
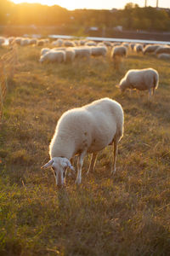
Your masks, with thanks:
M119 87L122 92L124 90L137 89L137 90L149 90L151 96L151 88L153 89L153 95L158 87L159 74L153 68L144 69L130 69L120 81Z

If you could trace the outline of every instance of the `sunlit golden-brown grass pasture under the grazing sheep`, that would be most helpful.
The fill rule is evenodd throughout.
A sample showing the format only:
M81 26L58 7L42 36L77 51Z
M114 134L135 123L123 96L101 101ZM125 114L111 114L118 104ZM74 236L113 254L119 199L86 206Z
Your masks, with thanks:
M19 48L0 125L0 255L169 255L170 62L132 53L117 71L109 57L41 65L39 52ZM122 76L144 67L160 73L155 98L122 95ZM80 186L57 189L41 169L57 120L104 96L125 114L115 176L108 147Z

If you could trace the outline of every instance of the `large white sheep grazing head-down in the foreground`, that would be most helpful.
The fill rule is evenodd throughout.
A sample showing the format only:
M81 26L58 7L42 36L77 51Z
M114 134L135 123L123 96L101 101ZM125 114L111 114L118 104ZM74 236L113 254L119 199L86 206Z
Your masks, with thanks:
M114 143L111 173L116 172L118 143L123 136L124 114L122 106L110 98L102 98L82 108L63 113L49 145L51 160L42 168L52 167L57 185L65 183L65 170L71 166L71 158L78 155L77 180L82 182L82 164L86 154L92 158L88 172L94 170L97 154Z

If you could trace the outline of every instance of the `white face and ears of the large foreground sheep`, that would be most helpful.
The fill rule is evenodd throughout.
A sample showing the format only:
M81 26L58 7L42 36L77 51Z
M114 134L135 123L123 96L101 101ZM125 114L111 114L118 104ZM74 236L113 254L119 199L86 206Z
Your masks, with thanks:
M54 157L52 160L49 160L46 165L42 166L42 168L48 167L52 167L53 169L57 186L63 186L65 184L65 172L67 167L74 171L74 167L71 166L70 160L65 157Z

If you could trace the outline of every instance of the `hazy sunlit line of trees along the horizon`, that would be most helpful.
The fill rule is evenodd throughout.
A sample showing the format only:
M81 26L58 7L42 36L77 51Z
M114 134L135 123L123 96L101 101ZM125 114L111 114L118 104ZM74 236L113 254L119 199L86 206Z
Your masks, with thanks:
M73 11L59 5L39 3L14 4L9 0L0 2L0 25L90 27L100 29L122 26L123 30L170 31L170 9L139 8L127 3L124 9L76 9Z

